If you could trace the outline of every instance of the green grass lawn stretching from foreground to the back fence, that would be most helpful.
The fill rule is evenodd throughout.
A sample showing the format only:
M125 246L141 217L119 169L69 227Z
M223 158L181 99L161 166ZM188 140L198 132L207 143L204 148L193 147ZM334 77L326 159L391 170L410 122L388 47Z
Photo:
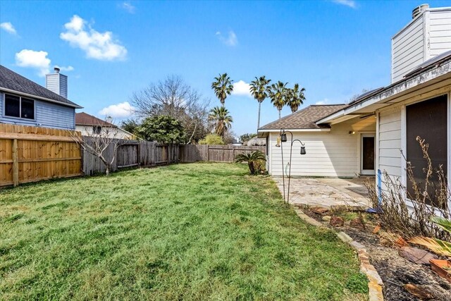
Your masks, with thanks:
M365 300L357 257L242 164L0 190L0 300Z

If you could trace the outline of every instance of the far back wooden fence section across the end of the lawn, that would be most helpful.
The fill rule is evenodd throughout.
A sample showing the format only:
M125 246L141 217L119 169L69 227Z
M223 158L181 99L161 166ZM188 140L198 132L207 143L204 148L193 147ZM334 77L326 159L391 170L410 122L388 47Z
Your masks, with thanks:
M243 147L235 145L180 145L180 161L233 162L237 154L260 150L266 152L265 146Z

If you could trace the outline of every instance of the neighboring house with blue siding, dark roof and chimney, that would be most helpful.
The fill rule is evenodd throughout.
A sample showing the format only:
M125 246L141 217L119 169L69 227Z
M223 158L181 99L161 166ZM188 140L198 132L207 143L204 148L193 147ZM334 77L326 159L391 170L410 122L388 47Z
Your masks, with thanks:
M64 92L67 93L66 75L59 75L58 68L55 70L56 75L51 75L51 80L65 80L62 84L66 85ZM59 89L56 92L60 91L60 85L56 86ZM75 130L75 109L81 108L0 65L0 123Z

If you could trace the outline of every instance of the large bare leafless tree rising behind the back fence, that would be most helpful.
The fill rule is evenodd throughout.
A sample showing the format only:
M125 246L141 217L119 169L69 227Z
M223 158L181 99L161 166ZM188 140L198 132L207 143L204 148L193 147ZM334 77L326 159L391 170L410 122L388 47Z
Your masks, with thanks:
M199 129L206 128L209 100L192 89L178 75L170 75L156 84L151 83L132 95L131 102L137 116L171 116L182 123L187 133L186 142L192 143ZM201 133L203 135L204 133Z

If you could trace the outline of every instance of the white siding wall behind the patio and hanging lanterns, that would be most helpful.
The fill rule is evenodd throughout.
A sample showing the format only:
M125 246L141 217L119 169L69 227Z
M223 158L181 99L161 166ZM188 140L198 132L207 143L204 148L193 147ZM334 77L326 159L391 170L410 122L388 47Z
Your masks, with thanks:
M307 154L300 155L300 144L292 149L292 176L355 177L360 173L360 135L376 132L376 118L353 118L332 125L330 132L295 132L293 140L305 143ZM355 131L355 134L350 134ZM269 172L282 176L282 152L276 147L278 133L269 136ZM288 134L290 140L290 134ZM283 143L283 161L288 164L290 146Z

